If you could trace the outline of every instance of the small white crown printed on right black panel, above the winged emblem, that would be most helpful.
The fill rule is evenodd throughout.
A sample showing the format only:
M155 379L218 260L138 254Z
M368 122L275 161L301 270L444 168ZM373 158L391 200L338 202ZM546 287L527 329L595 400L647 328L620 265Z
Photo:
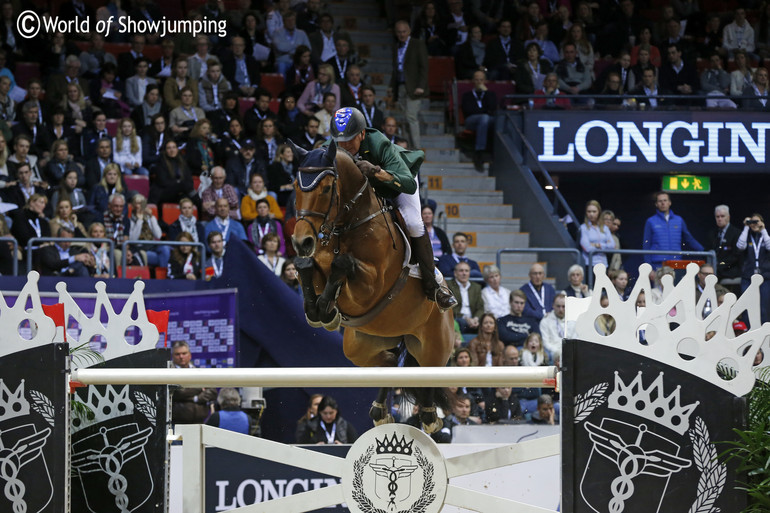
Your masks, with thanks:
M608 405L614 410L644 417L683 435L690 427L690 414L700 402L695 401L693 404L682 406L680 388L677 386L676 390L666 396L662 372L648 388L645 388L642 382L642 371L639 371L628 385L615 371L615 389L610 394Z

